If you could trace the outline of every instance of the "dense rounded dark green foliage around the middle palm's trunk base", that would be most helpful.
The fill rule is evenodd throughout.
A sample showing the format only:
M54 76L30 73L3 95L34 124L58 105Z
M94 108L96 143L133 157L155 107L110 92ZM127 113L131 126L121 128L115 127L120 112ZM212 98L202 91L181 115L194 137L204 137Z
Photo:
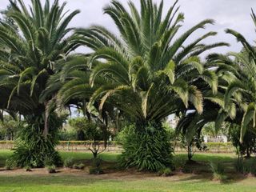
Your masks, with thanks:
M130 126L123 141L120 166L136 167L138 170L158 171L171 166L172 149L166 130L151 124L138 130Z

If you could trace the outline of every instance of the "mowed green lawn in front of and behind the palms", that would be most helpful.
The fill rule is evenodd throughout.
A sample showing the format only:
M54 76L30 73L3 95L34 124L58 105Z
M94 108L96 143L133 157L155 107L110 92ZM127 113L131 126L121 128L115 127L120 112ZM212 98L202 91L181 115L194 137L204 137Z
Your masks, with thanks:
M0 191L4 192L86 192L86 191L256 191L256 179L235 175L227 170L229 181L221 184L211 181L210 171L200 174L177 173L171 177L159 177L157 174L138 173L134 170L112 170L102 175L90 175L88 169L81 171L62 169L58 174L47 174L46 170L4 171L2 166L11 154L0 150ZM62 158L74 157L78 162L92 158L90 153L61 152ZM186 158L186 154L177 154ZM105 153L102 159L114 166L118 154ZM223 162L226 167L234 162L234 154L195 154L194 161ZM200 168L200 167L199 167ZM207 166L204 167L205 169ZM2 170L1 170L2 169ZM198 168L197 168L198 169ZM203 170L203 169L202 169Z

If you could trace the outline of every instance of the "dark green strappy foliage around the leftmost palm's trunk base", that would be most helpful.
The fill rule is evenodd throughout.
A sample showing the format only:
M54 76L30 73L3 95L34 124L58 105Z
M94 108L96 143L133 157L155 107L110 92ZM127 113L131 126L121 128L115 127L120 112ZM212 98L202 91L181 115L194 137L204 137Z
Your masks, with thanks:
M50 114L50 130L47 138L42 134L42 119L33 121L36 123L30 122L19 131L10 161L18 167L43 167L45 161L50 159L51 164L61 166L62 159L54 147L58 143L57 132L62 126L63 119L58 118L57 114Z

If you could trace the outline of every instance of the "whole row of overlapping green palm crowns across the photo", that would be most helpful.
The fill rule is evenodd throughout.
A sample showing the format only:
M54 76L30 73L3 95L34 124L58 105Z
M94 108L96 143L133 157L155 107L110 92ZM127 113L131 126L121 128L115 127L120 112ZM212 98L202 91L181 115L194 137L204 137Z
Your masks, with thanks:
M206 50L228 46L204 44L216 34L212 31L190 38L214 21L199 22L178 36L184 19L178 1L165 16L163 1L140 2L140 10L129 2L128 11L116 0L104 8L118 28L117 37L103 26L70 28L79 11L64 13L66 3L58 0L46 0L45 5L33 0L30 9L22 0L10 0L0 23L0 108L21 114L46 140L56 111L76 106L89 120L100 117L103 129L117 117L129 119L135 134L151 135L147 139L162 131L164 118L176 114L177 130L188 138L207 122L215 122L218 129L229 121L241 125L242 141L247 128L256 124L254 46L242 34L226 30L242 43L242 52L210 54L204 60L200 55ZM256 23L254 13L252 18ZM78 46L89 47L92 53L74 54ZM126 148L124 153L139 155L145 142L137 142L141 147ZM152 151L170 146L150 147ZM161 166L166 163L161 161L164 155L170 154L155 157ZM124 161L144 169L153 161L149 157Z

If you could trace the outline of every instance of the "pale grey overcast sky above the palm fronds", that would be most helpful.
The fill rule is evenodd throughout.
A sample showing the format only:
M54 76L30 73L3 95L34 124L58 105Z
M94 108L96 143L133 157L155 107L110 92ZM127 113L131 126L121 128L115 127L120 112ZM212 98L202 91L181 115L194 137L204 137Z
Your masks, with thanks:
M23 0L25 4L29 4L30 0ZM54 0L51 0L53 2ZM42 1L43 2L43 1ZM60 2L64 2L60 0ZM109 30L117 33L114 23L110 17L102 13L102 8L110 3L110 0L66 0L66 8L69 10L81 10L71 22L71 26L87 27L91 24L100 24L106 26ZM127 0L120 0L125 5ZM138 0L132 0L139 7ZM155 0L154 2L160 2ZM174 3L173 0L164 0L164 10ZM0 0L0 9L3 10L8 5L8 0ZM209 30L218 32L218 36L210 38L206 42L229 42L230 48L218 48L215 51L225 53L228 51L238 51L241 46L236 42L233 36L225 34L226 28L238 30L250 42L256 40L254 23L250 18L250 9L253 8L256 12L256 0L180 0L178 5L181 6L181 11L185 14L185 22L182 31L187 30L196 23L206 18L215 20L214 26L208 26L203 33ZM199 33L199 34L200 34ZM195 34L193 38L199 34ZM190 38L191 39L191 38Z

